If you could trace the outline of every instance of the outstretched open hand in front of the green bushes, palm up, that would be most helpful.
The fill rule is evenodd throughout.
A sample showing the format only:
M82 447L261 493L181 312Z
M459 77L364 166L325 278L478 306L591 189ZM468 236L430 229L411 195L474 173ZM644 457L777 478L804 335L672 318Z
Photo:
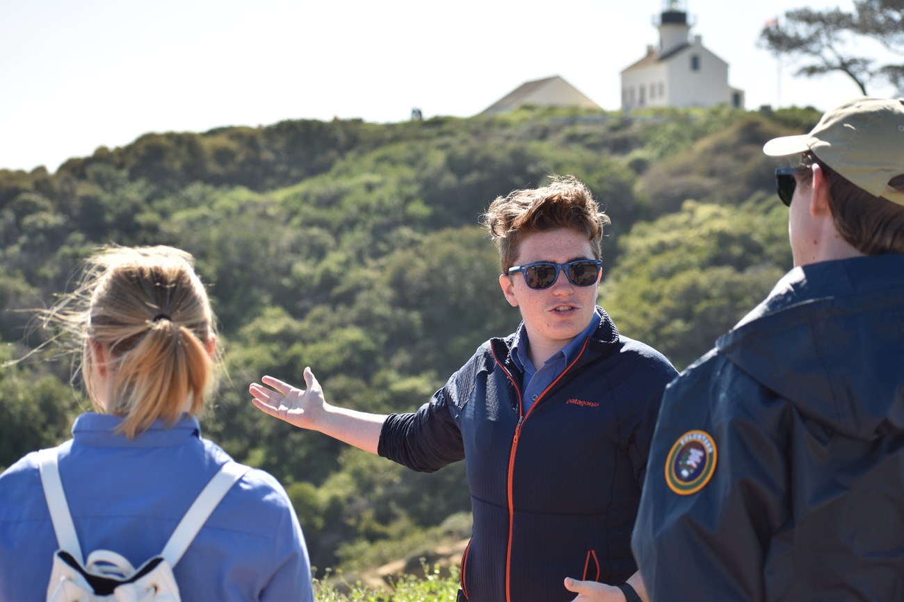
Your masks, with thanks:
M310 367L305 368L304 390L273 376L264 376L260 380L263 384L252 383L248 390L253 397L251 403L261 412L301 429L315 429L318 417L324 412L325 402L324 392Z

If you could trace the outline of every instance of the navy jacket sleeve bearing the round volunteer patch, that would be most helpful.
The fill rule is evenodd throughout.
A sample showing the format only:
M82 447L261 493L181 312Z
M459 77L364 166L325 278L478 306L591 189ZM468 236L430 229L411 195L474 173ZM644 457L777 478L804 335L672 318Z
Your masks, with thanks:
M666 389L632 538L651 600L765 599L770 541L790 516L789 411L715 354ZM692 431L709 437L714 462L695 491L674 477Z

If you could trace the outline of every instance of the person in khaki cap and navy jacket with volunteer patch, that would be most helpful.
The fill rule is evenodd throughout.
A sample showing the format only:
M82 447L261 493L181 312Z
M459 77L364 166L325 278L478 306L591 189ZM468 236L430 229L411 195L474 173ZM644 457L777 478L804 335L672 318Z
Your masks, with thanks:
M764 152L794 268L666 389L634 533L658 600L904 600L904 98Z

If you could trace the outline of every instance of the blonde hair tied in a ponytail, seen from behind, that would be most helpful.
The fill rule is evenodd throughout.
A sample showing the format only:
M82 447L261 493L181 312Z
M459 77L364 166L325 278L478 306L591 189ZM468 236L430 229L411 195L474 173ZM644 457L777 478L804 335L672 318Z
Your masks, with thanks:
M191 255L168 246L108 247L79 290L52 311L82 340L82 373L101 412L129 439L158 419L202 412L217 362L210 300ZM104 350L101 364L92 346ZM98 370L108 375L99 391Z

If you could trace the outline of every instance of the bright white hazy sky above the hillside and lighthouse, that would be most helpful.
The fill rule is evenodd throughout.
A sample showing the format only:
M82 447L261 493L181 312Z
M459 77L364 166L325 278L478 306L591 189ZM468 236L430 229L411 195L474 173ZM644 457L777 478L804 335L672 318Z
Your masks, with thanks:
M686 0L746 107L834 107L841 75L795 78L757 46L790 8L852 0ZM361 117L473 116L560 75L600 107L658 43L662 0L0 0L0 168L50 171L148 132ZM872 93L890 96L891 89Z

